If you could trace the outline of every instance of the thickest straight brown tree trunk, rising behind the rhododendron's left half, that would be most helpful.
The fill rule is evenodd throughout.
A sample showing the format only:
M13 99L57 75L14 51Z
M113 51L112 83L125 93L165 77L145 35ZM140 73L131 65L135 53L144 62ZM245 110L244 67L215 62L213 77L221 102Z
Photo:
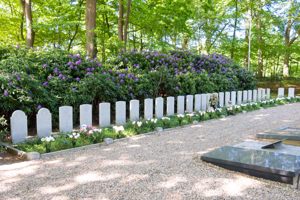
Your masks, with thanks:
M97 56L96 38L96 8L97 0L86 0L85 28L86 28L86 54L93 58Z

